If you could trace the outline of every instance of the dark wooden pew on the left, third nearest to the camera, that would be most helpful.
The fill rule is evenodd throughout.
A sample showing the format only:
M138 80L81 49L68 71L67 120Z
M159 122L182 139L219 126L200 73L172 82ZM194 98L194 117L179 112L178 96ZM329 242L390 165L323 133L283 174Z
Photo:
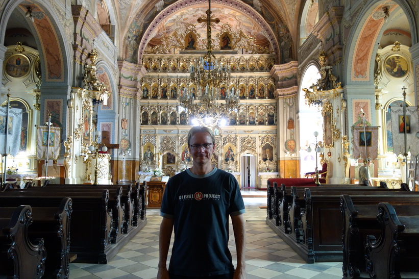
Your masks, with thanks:
M36 207L56 204L66 193L7 191L0 193L4 201L20 202ZM77 254L75 262L107 263L121 247L111 245L112 211L108 209L109 190L89 193L71 193L70 253Z

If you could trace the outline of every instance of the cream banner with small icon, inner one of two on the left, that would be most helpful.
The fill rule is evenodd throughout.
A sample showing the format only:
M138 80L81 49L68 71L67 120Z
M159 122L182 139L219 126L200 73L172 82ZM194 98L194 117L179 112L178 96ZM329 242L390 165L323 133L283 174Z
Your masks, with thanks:
M50 128L50 138L48 141L48 126L38 126L36 135L36 157L39 160L57 160L60 155L60 127ZM46 148L48 142L48 159L46 158Z

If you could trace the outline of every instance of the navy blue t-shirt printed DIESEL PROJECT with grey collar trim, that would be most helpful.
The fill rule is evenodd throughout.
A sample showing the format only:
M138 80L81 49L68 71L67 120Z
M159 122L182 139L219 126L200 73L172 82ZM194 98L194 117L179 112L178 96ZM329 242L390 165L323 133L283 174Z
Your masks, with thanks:
M214 168L195 175L187 169L171 177L160 213L174 222L169 272L186 276L233 272L229 216L242 213L243 199L231 173Z

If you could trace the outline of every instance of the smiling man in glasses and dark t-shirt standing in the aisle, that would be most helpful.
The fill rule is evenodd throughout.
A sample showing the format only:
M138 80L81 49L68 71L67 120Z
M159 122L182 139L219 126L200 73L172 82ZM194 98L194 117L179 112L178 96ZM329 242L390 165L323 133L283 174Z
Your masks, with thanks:
M164 192L157 278L245 278L244 203L231 173L211 165L213 132L194 126L188 133L192 167L172 176ZM228 249L229 216L237 251L234 269ZM175 231L170 264L166 261Z

